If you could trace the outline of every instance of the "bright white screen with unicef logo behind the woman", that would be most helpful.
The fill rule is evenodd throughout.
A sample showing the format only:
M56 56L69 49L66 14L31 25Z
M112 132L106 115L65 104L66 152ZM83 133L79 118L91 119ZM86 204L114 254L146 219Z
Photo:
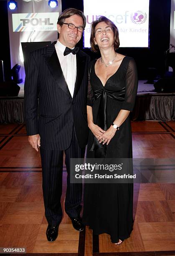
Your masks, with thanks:
M84 0L87 25L84 31L84 47L90 47L90 26L93 20L103 15L119 29L121 47L149 46L150 0Z

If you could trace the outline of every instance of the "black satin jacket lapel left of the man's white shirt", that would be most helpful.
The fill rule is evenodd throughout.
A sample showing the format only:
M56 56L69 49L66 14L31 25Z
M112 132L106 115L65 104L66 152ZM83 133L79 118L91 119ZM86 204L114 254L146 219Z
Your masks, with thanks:
M68 96L71 96L56 53L55 44L53 43L48 47L48 55L44 55L46 64L48 65L48 68L59 87L61 87L61 89L66 92Z

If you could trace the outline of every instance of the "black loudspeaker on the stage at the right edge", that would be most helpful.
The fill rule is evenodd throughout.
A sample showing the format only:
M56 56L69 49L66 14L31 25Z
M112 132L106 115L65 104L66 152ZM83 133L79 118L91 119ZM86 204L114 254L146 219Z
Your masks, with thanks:
M156 92L175 92L175 78L160 78L154 87Z

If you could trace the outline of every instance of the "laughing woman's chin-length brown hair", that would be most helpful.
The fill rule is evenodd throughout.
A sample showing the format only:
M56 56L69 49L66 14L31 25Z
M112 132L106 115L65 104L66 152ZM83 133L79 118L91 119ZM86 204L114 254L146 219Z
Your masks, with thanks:
M94 37L95 37L95 27L98 23L104 21L107 23L108 26L112 28L114 31L114 50L116 51L119 48L120 41L119 41L119 31L118 28L115 26L115 24L106 18L105 16L100 16L98 20L94 20L91 23L91 37L90 37L90 44L91 44L91 50L94 52L99 52L99 46L95 44Z

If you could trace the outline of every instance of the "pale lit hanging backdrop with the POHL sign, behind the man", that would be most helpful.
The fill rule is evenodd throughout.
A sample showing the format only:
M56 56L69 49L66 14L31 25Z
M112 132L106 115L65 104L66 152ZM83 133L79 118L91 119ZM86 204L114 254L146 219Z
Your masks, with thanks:
M8 9L11 67L20 64L20 78L25 80L21 42L56 41L56 23L61 0L51 8L48 0L16 0L18 8Z

